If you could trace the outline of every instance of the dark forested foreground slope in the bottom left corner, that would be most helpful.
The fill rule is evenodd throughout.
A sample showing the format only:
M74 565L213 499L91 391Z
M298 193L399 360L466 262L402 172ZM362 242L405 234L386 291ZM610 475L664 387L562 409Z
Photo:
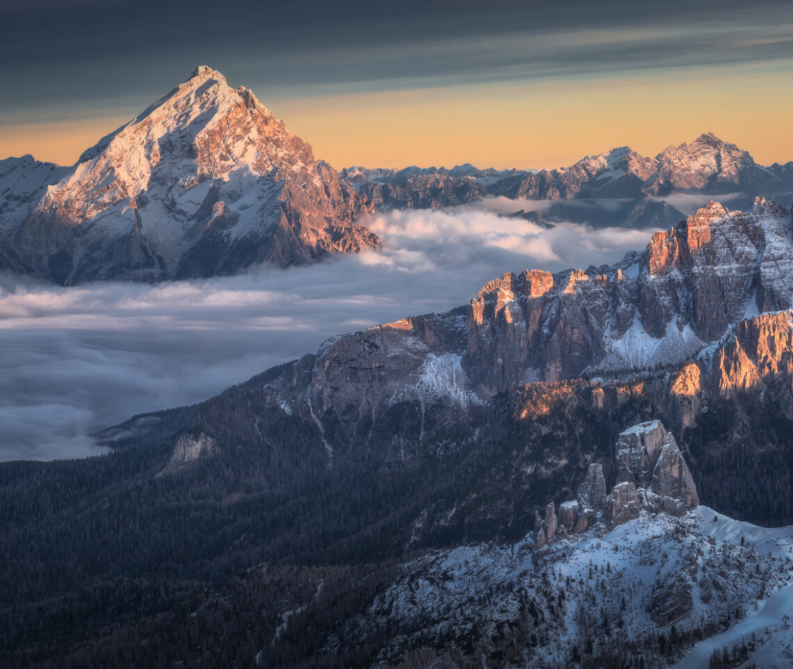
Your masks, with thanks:
M320 653L395 565L264 565L226 583L119 579L0 611L4 669L355 667L372 648ZM317 663L316 658L325 659Z

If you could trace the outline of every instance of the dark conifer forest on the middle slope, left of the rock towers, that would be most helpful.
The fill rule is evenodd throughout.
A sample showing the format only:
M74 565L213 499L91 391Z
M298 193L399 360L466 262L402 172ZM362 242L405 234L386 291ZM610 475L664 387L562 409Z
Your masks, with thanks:
M393 411L408 416L392 417L404 430L416 407ZM523 537L535 508L573 494L588 462L609 461L615 434L647 417L571 404L522 421L507 395L488 411L477 437L471 424L443 442L406 440L404 460L392 442L373 442L335 453L331 469L316 426L283 412L259 417L254 444L233 436L250 430L249 415L228 419L216 453L165 476L156 475L174 438L87 461L0 466L0 606L117 578L218 581L261 562L357 564ZM538 464L542 477L525 475Z

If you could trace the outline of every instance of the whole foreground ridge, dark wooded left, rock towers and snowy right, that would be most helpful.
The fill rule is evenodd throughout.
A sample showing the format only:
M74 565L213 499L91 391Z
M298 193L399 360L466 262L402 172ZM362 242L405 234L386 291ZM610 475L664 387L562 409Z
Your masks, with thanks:
M400 564L262 564L212 584L114 579L0 610L0 659L5 667L786 667L793 527L698 506L684 456L658 421L623 430L612 453L609 494L603 464L591 464L577 497L548 504L538 529L512 541Z

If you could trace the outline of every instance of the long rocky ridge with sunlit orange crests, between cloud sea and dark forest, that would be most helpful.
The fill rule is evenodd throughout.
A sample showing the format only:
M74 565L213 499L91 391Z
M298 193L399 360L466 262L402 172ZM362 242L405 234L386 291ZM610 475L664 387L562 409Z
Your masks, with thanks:
M791 308L791 231L776 203L746 213L711 203L615 266L507 273L467 308L332 338L266 384L264 401L342 448L408 400L423 438L439 402L476 411L522 384L673 369L744 319Z

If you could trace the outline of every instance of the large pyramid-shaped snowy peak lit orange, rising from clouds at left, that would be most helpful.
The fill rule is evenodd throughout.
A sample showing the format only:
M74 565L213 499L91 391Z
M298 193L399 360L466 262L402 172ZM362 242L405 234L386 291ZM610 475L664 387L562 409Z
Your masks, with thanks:
M376 248L362 202L250 90L193 75L71 168L0 162L0 267L62 284Z

